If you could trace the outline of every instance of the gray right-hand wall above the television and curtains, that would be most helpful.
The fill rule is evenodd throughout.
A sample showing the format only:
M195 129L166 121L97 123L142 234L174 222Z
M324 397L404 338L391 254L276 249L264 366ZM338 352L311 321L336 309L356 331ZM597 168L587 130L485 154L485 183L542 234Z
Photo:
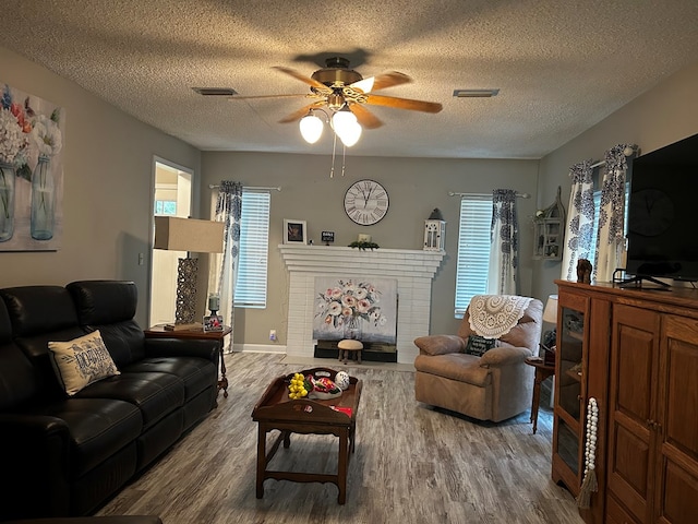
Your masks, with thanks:
M639 154L650 153L698 133L698 63L670 76L541 160L539 202L552 202L562 186L563 203L569 205L569 167L587 158L599 160L618 143L636 144ZM697 152L698 154L698 152ZM533 295L556 293L559 262L543 262L533 272Z

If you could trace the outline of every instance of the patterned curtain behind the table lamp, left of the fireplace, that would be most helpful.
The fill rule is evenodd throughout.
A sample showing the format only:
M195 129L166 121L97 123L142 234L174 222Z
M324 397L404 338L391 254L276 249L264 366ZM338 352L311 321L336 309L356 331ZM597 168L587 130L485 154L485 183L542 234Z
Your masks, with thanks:
M224 323L234 330L234 288L240 253L240 215L242 213L242 183L222 180L216 201L216 222L225 223L222 254L215 262L216 276L213 286L220 296L220 314ZM227 353L232 352L232 334Z

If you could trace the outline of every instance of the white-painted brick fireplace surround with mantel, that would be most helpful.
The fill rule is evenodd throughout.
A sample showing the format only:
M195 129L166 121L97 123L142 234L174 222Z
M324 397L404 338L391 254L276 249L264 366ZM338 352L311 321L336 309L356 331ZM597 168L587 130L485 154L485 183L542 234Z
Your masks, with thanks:
M286 353L312 357L316 276L386 277L397 279L397 361L412 364L419 350L413 340L429 333L432 279L444 258L441 251L359 249L281 245L288 272L288 332Z

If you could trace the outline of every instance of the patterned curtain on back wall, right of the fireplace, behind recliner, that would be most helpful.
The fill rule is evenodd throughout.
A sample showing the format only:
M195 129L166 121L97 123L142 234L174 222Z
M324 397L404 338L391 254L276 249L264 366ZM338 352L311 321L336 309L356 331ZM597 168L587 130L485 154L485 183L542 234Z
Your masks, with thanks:
M490 228L490 295L516 295L519 224L516 217L516 191L492 191L492 227Z

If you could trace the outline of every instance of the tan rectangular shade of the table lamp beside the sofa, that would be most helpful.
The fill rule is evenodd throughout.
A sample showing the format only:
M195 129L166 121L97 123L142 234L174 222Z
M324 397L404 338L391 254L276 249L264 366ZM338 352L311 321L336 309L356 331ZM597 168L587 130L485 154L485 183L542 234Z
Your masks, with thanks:
M155 217L155 249L222 253L222 222Z

